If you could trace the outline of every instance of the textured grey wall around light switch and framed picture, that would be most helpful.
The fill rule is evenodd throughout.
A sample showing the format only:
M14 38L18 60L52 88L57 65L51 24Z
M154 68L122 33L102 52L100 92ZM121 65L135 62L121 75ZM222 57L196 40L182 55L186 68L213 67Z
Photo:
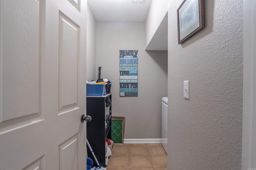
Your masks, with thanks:
M183 0L170 1L168 169L241 170L243 1L205 0L205 28L182 45L176 10Z

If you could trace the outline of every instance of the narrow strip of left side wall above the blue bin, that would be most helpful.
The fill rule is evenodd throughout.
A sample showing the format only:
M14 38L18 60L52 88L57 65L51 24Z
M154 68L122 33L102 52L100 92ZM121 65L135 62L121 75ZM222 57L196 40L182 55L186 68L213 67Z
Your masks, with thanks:
M87 5L87 39L86 39L86 79L88 81L96 80L95 63L96 63L96 44L95 44L95 29L96 21L90 7Z

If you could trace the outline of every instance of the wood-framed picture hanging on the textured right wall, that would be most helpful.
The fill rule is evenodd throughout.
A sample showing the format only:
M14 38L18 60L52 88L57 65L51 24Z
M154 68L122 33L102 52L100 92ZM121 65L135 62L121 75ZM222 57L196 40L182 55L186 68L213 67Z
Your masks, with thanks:
M184 0L177 10L178 44L204 28L204 0Z

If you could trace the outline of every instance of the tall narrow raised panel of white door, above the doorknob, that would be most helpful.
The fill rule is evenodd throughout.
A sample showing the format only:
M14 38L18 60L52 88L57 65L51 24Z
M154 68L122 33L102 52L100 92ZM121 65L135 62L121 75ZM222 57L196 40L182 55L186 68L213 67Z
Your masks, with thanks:
M80 27L59 14L59 112L74 109L79 101Z

